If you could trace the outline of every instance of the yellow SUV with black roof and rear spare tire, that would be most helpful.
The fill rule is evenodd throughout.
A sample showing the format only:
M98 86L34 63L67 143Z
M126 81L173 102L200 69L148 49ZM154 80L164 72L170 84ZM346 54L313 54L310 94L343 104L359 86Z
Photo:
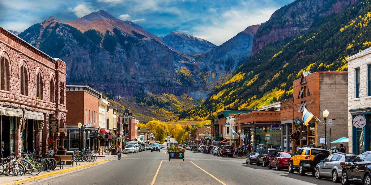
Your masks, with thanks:
M290 159L289 173L298 170L299 175L305 175L305 172L312 172L314 176L314 169L316 165L331 154L327 147L320 147L314 145L304 145L299 148L294 156Z

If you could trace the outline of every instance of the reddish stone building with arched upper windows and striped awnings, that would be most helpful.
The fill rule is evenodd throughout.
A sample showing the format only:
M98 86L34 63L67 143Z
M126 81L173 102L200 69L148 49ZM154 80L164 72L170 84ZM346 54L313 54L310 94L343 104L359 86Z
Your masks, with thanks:
M63 150L65 83L66 63L0 27L1 158Z

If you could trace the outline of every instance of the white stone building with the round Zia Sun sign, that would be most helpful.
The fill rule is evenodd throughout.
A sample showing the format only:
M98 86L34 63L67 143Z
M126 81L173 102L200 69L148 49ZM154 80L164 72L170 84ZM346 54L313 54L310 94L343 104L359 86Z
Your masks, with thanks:
M371 47L348 61L348 136L347 152L361 154L370 150Z

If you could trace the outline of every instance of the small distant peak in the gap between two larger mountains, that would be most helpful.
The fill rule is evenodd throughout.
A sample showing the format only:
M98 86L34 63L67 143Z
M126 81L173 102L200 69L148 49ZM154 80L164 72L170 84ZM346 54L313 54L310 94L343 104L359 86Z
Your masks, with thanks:
M187 55L209 52L216 47L213 43L202 38L190 36L185 33L173 31L161 40L170 48L185 53Z

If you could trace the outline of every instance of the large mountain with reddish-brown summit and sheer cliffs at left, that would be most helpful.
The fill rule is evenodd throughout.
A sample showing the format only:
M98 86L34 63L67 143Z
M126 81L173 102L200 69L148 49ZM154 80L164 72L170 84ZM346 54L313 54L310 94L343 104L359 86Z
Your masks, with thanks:
M181 95L200 87L190 75L192 58L102 10L68 23L50 17L19 37L65 61L68 84L88 84L116 96L139 90Z

